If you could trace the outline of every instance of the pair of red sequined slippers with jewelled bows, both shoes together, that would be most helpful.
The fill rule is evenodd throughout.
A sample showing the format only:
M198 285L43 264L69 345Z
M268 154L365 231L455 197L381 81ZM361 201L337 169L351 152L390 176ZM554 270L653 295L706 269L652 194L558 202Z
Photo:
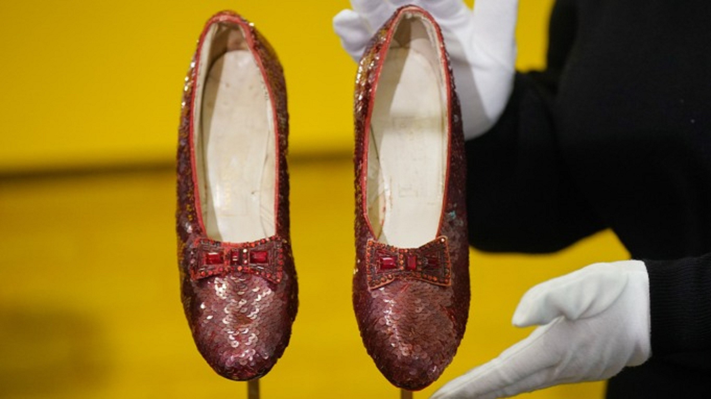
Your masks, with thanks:
M264 376L296 317L287 97L267 40L210 18L186 78L178 262L198 350L221 376ZM368 354L422 389L454 357L469 310L464 138L442 34L399 9L358 67L353 306Z

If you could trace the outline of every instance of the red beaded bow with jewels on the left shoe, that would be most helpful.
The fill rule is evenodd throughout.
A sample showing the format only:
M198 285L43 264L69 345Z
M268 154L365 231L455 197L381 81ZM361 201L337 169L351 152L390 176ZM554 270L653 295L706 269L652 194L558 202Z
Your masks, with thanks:
M287 240L278 236L240 244L196 239L191 248L190 277L196 281L236 271L279 284L288 245Z

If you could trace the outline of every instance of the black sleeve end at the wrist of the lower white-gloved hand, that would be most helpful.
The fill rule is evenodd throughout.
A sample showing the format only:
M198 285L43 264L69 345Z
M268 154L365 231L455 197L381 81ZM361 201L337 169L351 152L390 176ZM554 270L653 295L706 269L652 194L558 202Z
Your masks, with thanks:
M652 356L711 368L711 253L644 264L649 275Z

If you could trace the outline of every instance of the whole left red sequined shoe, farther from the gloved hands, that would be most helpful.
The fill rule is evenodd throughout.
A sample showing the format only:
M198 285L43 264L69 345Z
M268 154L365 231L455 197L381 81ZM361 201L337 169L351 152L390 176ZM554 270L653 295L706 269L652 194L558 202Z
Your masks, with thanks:
M230 11L208 21L178 135L178 266L198 350L220 376L264 376L289 344L287 94L282 66Z

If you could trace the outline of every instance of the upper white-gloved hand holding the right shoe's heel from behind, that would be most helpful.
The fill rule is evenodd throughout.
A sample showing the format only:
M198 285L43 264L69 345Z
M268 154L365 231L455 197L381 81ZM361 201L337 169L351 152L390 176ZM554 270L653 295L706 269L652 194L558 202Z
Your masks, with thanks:
M351 0L353 10L338 13L333 30L357 62L375 31L406 4L429 11L442 28L461 102L464 137L488 131L513 89L518 0L476 0L474 11L461 0Z

